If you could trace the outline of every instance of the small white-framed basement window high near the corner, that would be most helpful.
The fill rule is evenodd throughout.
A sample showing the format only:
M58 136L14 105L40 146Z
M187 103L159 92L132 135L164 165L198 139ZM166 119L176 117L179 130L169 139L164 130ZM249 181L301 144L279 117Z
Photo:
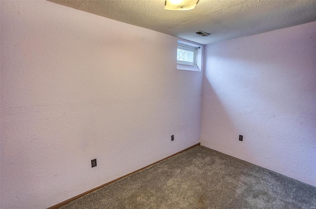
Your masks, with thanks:
M178 44L177 64L197 65L197 48Z

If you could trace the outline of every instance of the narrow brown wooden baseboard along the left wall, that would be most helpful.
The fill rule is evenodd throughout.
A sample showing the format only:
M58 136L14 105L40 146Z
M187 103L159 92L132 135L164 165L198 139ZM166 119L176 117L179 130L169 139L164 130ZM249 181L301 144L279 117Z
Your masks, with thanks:
M103 184L103 185L101 185L101 186L98 186L98 187L96 187L96 188L90 189L89 191L83 192L82 194L79 194L79 195L77 195L77 196L75 196L75 197L73 197L73 198L70 198L70 199L68 199L68 200L65 200L64 202L58 203L58 204L56 204L56 205L54 205L54 206L52 206L52 207L49 207L48 209L59 209L60 207L62 207L62 206L64 206L64 205L67 205L68 203L70 203L70 202L72 202L72 201L74 201L74 200L77 200L78 198L80 198L80 197L82 197L82 196L84 196L84 195L87 195L87 194L89 194L89 193L91 193L91 192L93 192L93 191L95 191L95 190L101 189L101 188L104 187L104 186L107 186L107 185L109 185L109 184L112 184L113 182L116 182L116 181L118 181L118 180L120 180L120 179L122 179L122 178L125 178L125 177L127 177L127 176L129 176L129 175L131 175L131 174L137 173L138 171L141 171L141 170L143 170L143 169L146 169L147 167L151 167L151 166L153 166L153 165L155 165L155 164L158 164L158 163L160 163L161 161L167 160L168 158L171 158L171 157L173 157L173 156L176 156L176 155L178 155L178 154L180 154L180 153L182 153L182 152L185 152L185 151L187 151L187 150L190 150L190 149L192 149L192 148L194 148L194 147L196 147L196 146L199 146L199 145L201 145L201 143L197 143L197 144L195 144L195 145L193 145L193 146L191 146L191 147L188 147L187 149L181 150L180 152L177 152L177 153L175 153L175 154L173 154L173 155L170 155L170 156L168 156L168 157L166 157L166 158L164 158L164 159L161 159L161 160L159 160L159 161L157 161L157 162L155 162L155 163L152 163L152 164L149 165L149 166L142 167L142 168L140 168L140 169L138 169L138 170L135 170L135 171L133 171L133 172L131 172L131 173L128 173L128 174L126 174L126 175L123 175L123 176L121 176L121 177L119 177L119 178L117 178L117 179L114 179L113 181L110 181L110 182L108 182L108 183L105 183L105 184Z

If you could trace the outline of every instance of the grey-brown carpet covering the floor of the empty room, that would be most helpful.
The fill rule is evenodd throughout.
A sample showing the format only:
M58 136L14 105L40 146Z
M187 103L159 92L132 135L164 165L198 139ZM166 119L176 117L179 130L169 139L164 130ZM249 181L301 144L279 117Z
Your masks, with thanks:
M197 146L61 209L315 209L316 187Z

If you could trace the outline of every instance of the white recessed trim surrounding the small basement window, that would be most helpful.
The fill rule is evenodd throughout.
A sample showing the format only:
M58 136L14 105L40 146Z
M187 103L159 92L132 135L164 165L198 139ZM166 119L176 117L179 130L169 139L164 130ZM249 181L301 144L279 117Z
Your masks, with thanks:
M190 42L178 40L179 45L187 45L197 49L196 65L187 65L177 63L178 70L201 71L202 69L202 46Z

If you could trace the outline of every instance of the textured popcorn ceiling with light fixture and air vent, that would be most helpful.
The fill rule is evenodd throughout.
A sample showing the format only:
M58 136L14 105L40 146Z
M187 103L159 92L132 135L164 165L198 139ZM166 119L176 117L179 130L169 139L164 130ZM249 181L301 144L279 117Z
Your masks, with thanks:
M316 21L316 0L199 0L189 11L164 10L164 0L49 1L202 44Z

